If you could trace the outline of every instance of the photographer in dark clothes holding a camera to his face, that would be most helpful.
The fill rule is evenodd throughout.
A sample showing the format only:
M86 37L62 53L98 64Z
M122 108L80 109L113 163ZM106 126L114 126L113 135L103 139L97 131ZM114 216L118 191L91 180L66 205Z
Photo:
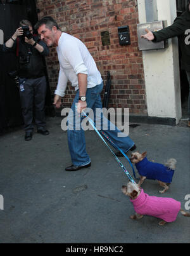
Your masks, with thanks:
M3 51L14 51L18 58L20 99L25 123L25 140L31 140L34 130L33 106L37 132L48 135L45 121L46 77L42 56L49 54L46 44L33 34L32 24L22 20L11 38L3 45Z

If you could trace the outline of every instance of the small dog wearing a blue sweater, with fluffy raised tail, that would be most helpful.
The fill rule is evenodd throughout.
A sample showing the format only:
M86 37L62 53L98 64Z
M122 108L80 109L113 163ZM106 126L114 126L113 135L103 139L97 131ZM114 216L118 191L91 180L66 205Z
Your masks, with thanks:
M141 187L145 179L158 180L158 183L164 187L162 191L159 191L163 194L169 189L168 185L172 183L177 161L174 158L170 158L165 165L153 163L148 161L146 154L147 152L142 154L135 152L131 154L130 161L136 165L137 171L141 175L138 185Z

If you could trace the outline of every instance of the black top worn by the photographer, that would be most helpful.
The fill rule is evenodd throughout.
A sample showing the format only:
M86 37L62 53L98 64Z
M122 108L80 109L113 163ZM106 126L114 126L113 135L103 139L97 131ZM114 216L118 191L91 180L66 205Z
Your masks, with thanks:
M45 74L43 56L49 54L49 48L43 41L39 40L38 36L33 36L33 39L43 46L44 51L42 51L42 53L36 50L31 44L25 43L25 41L19 37L12 48L6 47L5 44L3 45L4 52L15 51L18 57L18 73L20 77L37 78ZM26 57L28 57L30 61L28 63L22 63L21 60Z

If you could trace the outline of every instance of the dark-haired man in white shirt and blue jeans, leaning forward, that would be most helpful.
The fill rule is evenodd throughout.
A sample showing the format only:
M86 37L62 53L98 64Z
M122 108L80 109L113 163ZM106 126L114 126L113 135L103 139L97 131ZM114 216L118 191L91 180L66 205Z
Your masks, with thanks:
M58 108L61 106L61 97L65 95L68 81L72 83L77 92L71 111L68 114L67 135L72 165L65 168L65 170L70 172L87 168L91 166L91 159L85 149L84 130L77 129L76 127L79 125L77 123L70 125L72 123L70 120L76 120L75 104L77 103L77 112L79 113L87 107L93 111L96 108L102 108L100 93L103 89L103 80L101 74L85 44L76 37L61 32L53 18L42 18L35 25L35 29L37 29L39 36L47 46L56 46L58 53L60 73L54 96L54 105ZM106 121L108 120L106 119ZM80 118L81 122L82 118ZM113 124L108 121L108 130L105 133L111 137L113 142L124 152L134 149L134 142L129 137L121 138L117 136L117 133L120 132L116 126L113 130Z

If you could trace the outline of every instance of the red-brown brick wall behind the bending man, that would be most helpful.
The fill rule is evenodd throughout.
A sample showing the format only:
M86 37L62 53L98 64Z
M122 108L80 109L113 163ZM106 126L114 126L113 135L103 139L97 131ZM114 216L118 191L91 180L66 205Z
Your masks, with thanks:
M143 58L137 48L138 12L136 0L36 0L39 18L53 17L61 30L78 37L89 49L106 83L111 73L109 107L127 107L146 113ZM129 46L120 46L118 27L129 25ZM108 31L110 45L103 46L101 32ZM58 81L56 49L46 58L52 95ZM102 95L103 96L103 95ZM63 106L71 105L75 91L68 84Z

